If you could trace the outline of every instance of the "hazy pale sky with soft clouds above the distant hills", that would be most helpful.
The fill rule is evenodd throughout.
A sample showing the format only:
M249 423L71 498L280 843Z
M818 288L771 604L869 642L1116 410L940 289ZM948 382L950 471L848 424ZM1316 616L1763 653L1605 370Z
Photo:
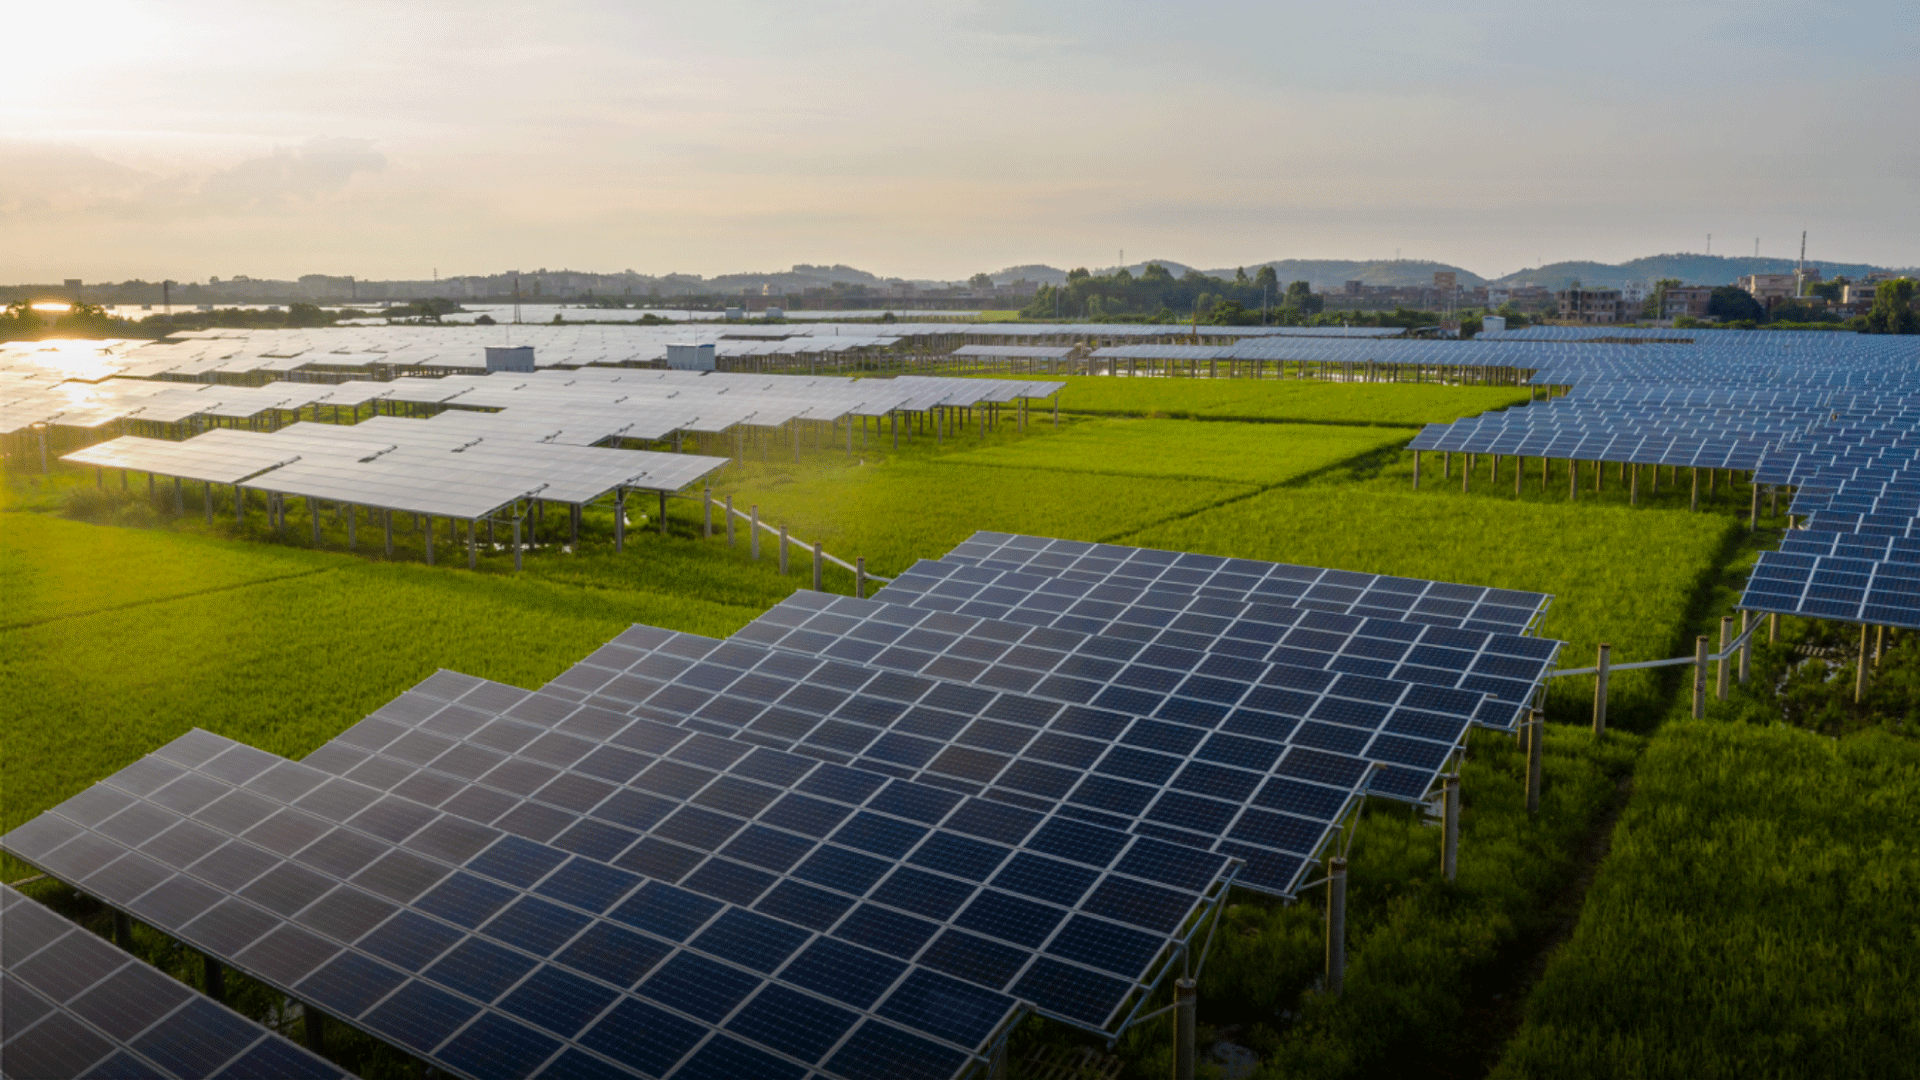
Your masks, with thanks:
M0 281L1920 263L1920 4L90 0Z

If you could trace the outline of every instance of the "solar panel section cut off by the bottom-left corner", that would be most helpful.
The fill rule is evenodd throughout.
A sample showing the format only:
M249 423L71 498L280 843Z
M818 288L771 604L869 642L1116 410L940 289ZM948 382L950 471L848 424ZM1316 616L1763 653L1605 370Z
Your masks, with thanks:
M346 1078L10 886L0 926L0 1076Z

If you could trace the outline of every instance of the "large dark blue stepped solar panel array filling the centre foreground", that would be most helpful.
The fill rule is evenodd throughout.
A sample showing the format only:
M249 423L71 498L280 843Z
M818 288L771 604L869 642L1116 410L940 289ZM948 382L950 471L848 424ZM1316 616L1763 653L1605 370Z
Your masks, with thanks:
M534 694L436 675L303 763L194 732L0 846L463 1076L954 1076L1425 796L1546 600L979 534Z

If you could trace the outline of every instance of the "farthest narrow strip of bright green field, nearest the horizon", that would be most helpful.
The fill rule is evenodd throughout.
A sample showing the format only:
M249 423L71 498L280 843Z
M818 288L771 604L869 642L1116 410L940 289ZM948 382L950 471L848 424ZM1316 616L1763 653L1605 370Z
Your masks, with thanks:
M1526 402L1526 388L1298 379L1062 379L1073 413L1208 421L1300 421L1409 427L1452 423Z

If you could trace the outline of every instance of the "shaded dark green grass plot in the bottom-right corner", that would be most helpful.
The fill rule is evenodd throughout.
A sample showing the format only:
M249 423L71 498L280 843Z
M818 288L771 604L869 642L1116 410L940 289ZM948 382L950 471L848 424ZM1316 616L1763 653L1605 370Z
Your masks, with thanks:
M1910 1076L1920 744L1670 721L1496 1078Z

